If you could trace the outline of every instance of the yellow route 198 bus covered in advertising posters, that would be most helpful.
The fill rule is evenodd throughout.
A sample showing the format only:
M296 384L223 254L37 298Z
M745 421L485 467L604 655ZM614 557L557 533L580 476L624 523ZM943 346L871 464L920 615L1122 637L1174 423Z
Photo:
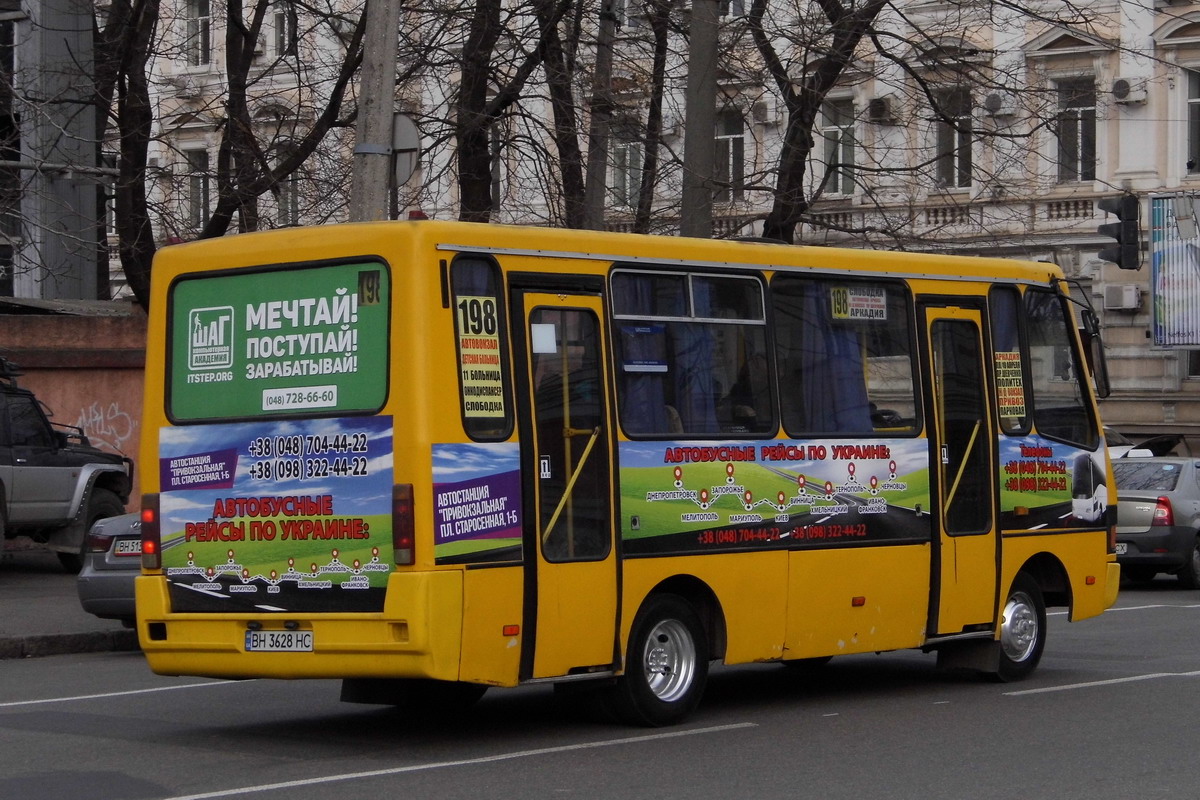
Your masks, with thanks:
M164 248L149 325L157 673L668 724L714 661L1019 679L1048 606L1116 599L1096 318L1051 264L343 224Z

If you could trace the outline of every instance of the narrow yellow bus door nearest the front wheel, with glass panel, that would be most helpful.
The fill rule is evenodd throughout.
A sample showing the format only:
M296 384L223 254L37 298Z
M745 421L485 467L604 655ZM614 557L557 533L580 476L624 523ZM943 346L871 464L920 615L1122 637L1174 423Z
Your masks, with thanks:
M932 381L929 439L936 489L937 554L930 632L990 630L996 616L1000 553L995 443L984 372L982 314L925 307Z

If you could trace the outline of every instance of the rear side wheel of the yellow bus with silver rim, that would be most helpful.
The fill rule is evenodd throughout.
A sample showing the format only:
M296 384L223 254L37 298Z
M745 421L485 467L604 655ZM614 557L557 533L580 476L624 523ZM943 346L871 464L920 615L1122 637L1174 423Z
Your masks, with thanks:
M610 705L625 722L674 724L700 703L708 679L708 640L695 609L678 595L650 597L634 620L625 674Z

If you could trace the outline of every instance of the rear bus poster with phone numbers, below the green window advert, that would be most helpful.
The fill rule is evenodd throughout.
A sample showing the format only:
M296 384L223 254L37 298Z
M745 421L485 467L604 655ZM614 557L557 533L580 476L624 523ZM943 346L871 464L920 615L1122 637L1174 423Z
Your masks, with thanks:
M166 427L172 607L382 610L392 571L392 419Z

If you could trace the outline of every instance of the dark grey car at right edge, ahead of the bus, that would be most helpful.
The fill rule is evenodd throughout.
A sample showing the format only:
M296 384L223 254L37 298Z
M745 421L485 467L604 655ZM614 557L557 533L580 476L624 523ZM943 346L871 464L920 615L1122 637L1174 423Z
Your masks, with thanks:
M1126 457L1117 482L1117 563L1130 581L1159 572L1200 589L1200 461Z

